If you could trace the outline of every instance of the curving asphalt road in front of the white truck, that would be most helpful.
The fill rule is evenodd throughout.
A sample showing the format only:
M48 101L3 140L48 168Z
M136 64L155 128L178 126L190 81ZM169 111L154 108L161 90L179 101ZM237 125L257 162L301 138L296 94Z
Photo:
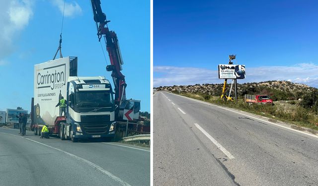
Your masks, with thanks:
M0 128L0 186L150 186L150 150Z

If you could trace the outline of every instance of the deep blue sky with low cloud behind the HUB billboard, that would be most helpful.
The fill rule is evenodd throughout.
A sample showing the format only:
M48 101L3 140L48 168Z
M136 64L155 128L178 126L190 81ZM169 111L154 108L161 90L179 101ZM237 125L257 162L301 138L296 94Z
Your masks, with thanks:
M154 87L223 83L218 64L245 64L238 83L318 88L318 1L154 0Z

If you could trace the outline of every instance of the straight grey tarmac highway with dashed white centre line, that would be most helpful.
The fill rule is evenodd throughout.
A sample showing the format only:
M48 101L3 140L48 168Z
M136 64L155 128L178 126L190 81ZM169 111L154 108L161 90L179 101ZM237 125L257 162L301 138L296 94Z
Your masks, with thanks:
M154 94L154 186L318 186L318 136Z

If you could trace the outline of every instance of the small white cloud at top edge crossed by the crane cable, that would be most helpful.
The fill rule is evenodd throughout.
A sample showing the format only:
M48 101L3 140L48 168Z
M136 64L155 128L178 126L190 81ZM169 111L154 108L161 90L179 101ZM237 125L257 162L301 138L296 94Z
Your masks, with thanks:
M59 8L61 13L63 14L64 0L53 0L52 2L55 6L57 6ZM82 12L82 10L77 2L75 2L75 1L65 2L64 16L74 17L75 15L80 15L81 12Z

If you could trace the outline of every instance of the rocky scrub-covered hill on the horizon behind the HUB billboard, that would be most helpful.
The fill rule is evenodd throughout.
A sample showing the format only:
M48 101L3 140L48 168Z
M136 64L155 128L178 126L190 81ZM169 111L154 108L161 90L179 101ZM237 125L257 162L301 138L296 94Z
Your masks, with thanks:
M228 80L227 90L231 86L231 80ZM159 90L167 90L171 92L187 92L196 94L209 94L212 96L221 96L223 84L195 84L187 86L160 86ZM317 88L310 87L305 84L292 83L289 81L265 81L259 83L238 83L238 96L242 98L244 94L267 94L273 101L277 100L298 100L306 93L317 91ZM234 87L232 95L234 94Z

